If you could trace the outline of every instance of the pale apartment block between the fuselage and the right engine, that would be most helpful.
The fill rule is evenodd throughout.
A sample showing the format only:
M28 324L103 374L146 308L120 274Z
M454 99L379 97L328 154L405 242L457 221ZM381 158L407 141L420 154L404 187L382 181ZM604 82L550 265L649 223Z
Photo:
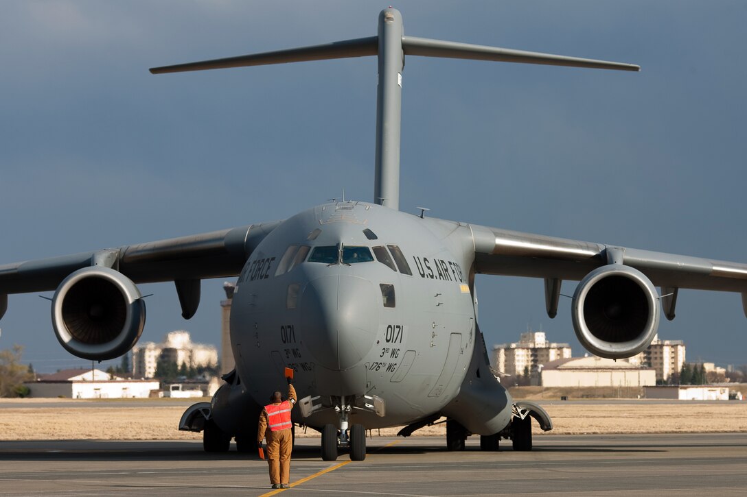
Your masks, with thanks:
M548 342L544 331L527 331L521 334L518 343L493 346L495 369L506 375L524 375L528 368L530 375L536 376L540 364L565 357L571 357L571 346Z

